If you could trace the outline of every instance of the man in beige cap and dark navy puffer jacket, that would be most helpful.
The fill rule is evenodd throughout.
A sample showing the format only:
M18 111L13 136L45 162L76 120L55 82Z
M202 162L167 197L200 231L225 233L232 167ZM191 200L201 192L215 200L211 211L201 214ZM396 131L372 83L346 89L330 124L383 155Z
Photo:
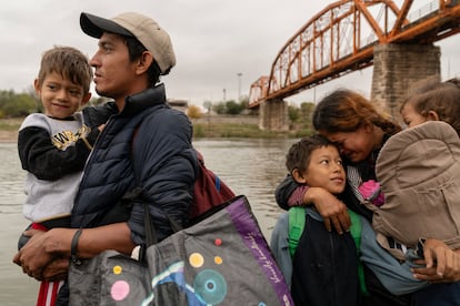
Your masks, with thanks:
M87 161L72 211L73 228L30 231L30 242L36 243L14 256L37 279L66 275L64 258L70 255L90 258L106 249L131 254L144 243L143 202L149 203L158 239L163 239L172 233L163 214L187 221L198 173L191 123L167 105L164 85L159 83L176 64L169 34L134 12L111 19L83 12L80 26L99 39L90 64L96 91L113 99L109 103L114 114ZM121 198L136 186L142 187L143 202L128 210ZM66 305L66 297L61 289L57 305Z

